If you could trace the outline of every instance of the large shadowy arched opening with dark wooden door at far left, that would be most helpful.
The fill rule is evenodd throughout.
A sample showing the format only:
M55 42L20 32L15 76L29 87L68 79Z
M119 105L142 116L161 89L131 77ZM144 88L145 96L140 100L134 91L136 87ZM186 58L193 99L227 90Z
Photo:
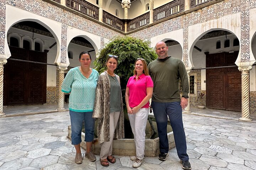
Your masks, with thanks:
M46 64L53 64L57 56L57 47L50 48L56 42L53 34L37 20L21 21L9 28L7 41L11 57L4 67L4 105L48 103L48 84L52 89L55 85L56 96L56 67L52 66L53 74ZM55 101L50 104L57 104L56 97Z

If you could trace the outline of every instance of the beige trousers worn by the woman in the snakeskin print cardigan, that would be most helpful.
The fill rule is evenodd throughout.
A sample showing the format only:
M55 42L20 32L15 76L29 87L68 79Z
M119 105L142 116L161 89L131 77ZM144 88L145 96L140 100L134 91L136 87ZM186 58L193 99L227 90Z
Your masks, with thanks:
M120 115L120 112L110 113L110 141L103 142L101 144L101 153L100 153L101 160L107 159L107 156L112 155L114 131L116 130L119 115Z

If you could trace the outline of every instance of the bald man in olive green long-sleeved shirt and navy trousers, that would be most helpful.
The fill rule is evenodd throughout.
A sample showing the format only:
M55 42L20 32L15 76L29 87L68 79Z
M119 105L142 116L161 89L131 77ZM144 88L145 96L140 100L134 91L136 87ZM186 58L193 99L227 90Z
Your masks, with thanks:
M169 156L167 138L167 116L170 119L177 154L182 168L190 170L187 155L187 143L182 121L182 109L188 104L189 84L186 68L180 59L168 56L165 42L155 46L158 59L148 64L149 74L154 82L151 106L153 108L160 140L159 159L165 161ZM181 79L182 98L180 97L179 79Z

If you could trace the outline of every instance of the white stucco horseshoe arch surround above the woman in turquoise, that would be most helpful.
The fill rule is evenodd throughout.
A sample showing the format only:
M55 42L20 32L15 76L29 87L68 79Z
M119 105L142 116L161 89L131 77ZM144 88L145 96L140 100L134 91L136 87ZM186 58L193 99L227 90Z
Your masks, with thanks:
M67 48L69 46L70 41L73 38L77 37L77 36L83 37L83 38L85 38L87 41L89 41L91 43L91 45L94 47L94 50L95 50L95 53L96 53L96 57L97 57L97 53L99 52L99 49L101 47L101 37L98 36L98 35L86 32L84 30L68 26ZM66 52L66 63L67 63L67 65L70 64L69 58L68 58L68 49L67 49L67 52Z

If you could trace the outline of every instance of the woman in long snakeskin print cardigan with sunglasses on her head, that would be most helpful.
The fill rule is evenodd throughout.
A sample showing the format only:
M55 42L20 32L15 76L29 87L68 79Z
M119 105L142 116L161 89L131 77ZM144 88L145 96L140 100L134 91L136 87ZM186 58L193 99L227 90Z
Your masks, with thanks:
M100 74L96 88L93 118L98 118L97 135L101 145L102 166L115 163L112 156L113 138L124 138L124 115L120 78L114 74L117 56L109 55L107 71Z

